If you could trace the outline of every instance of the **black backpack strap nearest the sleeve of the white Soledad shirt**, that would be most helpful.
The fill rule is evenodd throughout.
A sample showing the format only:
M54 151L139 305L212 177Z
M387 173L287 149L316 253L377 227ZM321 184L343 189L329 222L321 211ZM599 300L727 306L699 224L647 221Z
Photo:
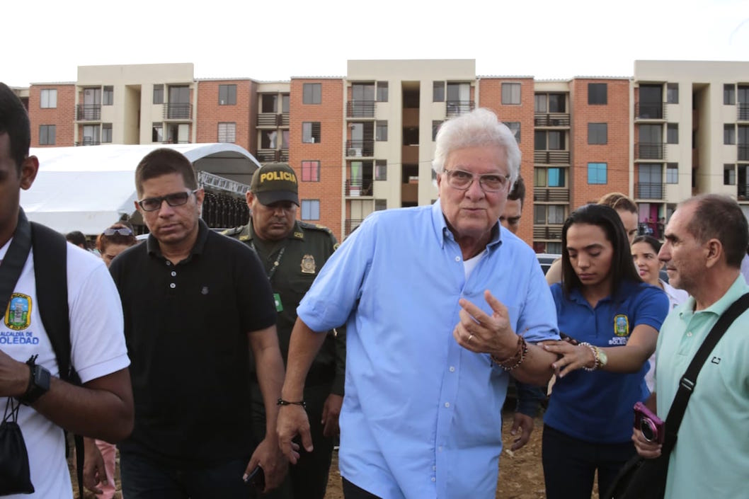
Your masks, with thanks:
M37 302L44 330L55 351L60 379L80 384L78 373L70 360L70 311L67 306L67 241L63 235L39 223L31 223L34 246L34 276ZM66 432L67 433L67 432ZM67 438L66 438L67 441ZM73 435L76 446L78 494L83 497L83 438ZM65 447L67 456L67 443Z

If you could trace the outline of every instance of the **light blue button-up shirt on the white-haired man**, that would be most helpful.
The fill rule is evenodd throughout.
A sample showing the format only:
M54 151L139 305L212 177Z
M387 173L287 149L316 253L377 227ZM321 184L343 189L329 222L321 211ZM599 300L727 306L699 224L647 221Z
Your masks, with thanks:
M316 331L347 322L347 480L383 499L494 498L509 375L452 336L459 298L492 313L486 289L529 342L558 339L533 249L500 227L466 279L439 201L370 215L327 261L297 312Z

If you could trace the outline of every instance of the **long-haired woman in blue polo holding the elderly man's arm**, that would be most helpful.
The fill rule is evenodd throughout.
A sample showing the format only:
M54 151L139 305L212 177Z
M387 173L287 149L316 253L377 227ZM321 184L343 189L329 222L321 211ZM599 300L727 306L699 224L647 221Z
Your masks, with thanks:
M608 488L634 455L634 403L644 401L647 360L668 297L640 279L619 215L604 205L574 211L562 226L562 282L551 286L568 341L544 416L542 460L548 499L589 499Z

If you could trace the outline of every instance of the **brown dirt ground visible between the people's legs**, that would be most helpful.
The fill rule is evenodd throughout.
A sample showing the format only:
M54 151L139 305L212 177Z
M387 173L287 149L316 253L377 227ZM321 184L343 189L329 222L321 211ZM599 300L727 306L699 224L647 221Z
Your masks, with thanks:
M503 417L503 441L505 449L512 445L514 437L510 435L512 426L512 412L506 412ZM497 495L495 499L545 499L544 473L541 465L541 434L542 420L536 418L536 427L531 434L530 442L512 456L503 450L500 458L500 480L497 483ZM73 477L75 475L73 474ZM119 473L115 474L115 482L118 492L115 499L122 499L120 493ZM73 478L75 483L75 478ZM77 491L74 492L76 499ZM86 499L96 499L91 494L85 495ZM338 453L333 454L333 465L330 467L330 478L325 499L343 499L341 489L341 474L338 471ZM598 499L598 492L593 491L592 499Z

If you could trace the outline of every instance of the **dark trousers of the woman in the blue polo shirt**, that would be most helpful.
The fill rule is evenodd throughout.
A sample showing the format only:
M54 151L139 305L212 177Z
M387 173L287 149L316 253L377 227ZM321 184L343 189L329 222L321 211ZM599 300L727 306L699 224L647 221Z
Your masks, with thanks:
M594 444L544 425L542 462L546 499L590 499L595 471L598 471L598 491L602 494L635 452L631 441Z

